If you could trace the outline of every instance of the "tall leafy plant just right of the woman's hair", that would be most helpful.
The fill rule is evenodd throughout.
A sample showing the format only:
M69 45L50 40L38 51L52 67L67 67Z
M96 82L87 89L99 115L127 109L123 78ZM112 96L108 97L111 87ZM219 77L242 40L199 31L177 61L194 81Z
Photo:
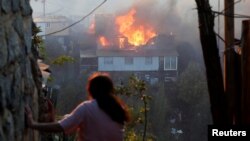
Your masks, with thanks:
M138 105L138 101L133 101L130 105L130 111L133 115L133 120L130 125L127 126L126 132L126 140L129 141L136 141L138 138L142 138L141 140L146 140L146 133L147 133L147 123L148 123L148 101L151 100L151 97L145 93L147 87L146 83L143 80L138 79L136 76L132 75L129 80L128 84L117 86L116 87L116 94L120 94L127 97L133 97L137 100L139 99L142 101L142 105ZM144 124L142 136L140 137L140 133L135 130L135 126L139 124ZM140 131L139 131L140 132ZM139 139L140 140L140 139Z

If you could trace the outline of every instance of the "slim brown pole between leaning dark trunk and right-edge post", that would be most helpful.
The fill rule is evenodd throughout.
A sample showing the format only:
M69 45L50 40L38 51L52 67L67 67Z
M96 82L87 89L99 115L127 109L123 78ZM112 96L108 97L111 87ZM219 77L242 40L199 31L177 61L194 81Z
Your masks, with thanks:
M236 53L234 51L234 0L224 0L225 8L225 56L224 56L224 87L228 106L230 124L237 124L237 74Z

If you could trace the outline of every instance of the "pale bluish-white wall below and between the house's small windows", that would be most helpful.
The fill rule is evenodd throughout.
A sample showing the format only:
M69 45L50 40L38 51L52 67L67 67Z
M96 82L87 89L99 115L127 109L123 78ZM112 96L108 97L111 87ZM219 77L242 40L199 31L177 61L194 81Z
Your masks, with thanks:
M145 57L133 57L132 64L125 63L125 57L110 57L111 64L105 64L105 57L98 57L98 71L158 71L159 57L152 57L152 64L145 63Z

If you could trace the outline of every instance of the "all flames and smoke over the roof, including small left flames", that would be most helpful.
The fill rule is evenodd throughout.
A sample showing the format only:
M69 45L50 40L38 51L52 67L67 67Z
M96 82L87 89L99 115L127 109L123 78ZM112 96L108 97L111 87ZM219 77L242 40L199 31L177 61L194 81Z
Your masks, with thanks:
M138 48L157 35L153 26L136 17L135 9L118 16L98 14L90 31L93 28L100 48Z

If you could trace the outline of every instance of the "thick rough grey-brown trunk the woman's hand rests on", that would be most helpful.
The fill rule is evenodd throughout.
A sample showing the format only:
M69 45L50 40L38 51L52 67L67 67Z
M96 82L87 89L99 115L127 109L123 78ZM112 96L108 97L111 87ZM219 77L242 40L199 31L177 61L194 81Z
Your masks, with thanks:
M32 9L29 0L0 0L0 7L0 141L36 141L24 114L27 104L38 111L41 92Z

